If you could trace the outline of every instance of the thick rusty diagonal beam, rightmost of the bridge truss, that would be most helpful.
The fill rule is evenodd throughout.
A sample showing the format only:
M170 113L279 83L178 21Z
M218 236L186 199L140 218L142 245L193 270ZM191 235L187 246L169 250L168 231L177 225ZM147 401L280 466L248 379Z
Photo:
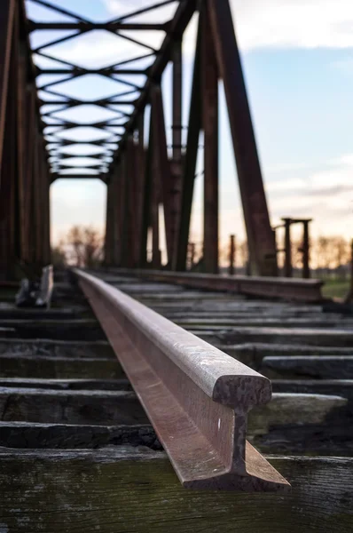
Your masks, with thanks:
M207 3L224 80L253 274L277 275L275 243L229 0Z

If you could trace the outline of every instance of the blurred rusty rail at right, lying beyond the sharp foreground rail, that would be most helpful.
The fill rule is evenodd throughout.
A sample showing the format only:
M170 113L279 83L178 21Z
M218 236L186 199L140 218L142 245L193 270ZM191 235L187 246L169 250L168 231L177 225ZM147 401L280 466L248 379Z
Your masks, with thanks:
M320 302L321 280L302 280L294 278L256 277L246 275L191 274L184 272L161 272L158 270L120 270L122 273L156 282L172 282L186 287L208 290L226 290L239 294L283 298L302 302Z

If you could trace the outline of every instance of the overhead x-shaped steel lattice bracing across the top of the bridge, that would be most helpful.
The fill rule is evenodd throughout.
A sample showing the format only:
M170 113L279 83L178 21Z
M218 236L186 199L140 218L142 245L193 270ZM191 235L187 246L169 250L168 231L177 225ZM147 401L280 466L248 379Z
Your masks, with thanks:
M60 20L59 22L28 20L28 29L31 33L54 31L57 34L58 30L63 33L74 32L69 35L56 36L42 44L32 45L37 64L36 76L42 106L41 115L46 124L43 132L48 143L53 179L59 176L67 177L70 174L77 177L97 175L105 179L105 176L109 174L110 164L114 160L114 153L119 147L126 126L133 119L136 103L145 91L144 84L137 83L135 80L139 77L143 81L147 79L148 82L151 62L159 53L158 47L144 42L143 37L137 39L127 32L138 31L139 35L145 35L151 39L149 34L153 31L154 36L155 32L160 32L160 35L162 33L164 37L169 32L171 20L135 22L134 19L136 17L143 19L146 14L153 15L155 20L161 19L159 15L161 8L170 4L170 7L175 10L177 4L183 4L183 2L176 3L175 0L168 0L151 3L142 9L106 22L88 20L76 12L63 9L56 2L29 0L28 4L39 4L57 16L58 14L64 15L68 19L68 21ZM122 55L127 49L130 57L120 57L119 61L114 60L111 64L101 68L87 68L80 66L78 64L80 61L59 57L62 44L75 40L73 43L75 45L79 40L82 42L85 36L92 36L92 32L97 31L119 39L122 43ZM144 53L140 52L141 47ZM52 49L55 50L51 52ZM135 50L139 53L134 53ZM132 68L134 64L137 67ZM43 77L45 81L41 84ZM102 91L99 93L99 87L104 88L105 80L106 82L109 80L109 83L106 83L106 92L102 96ZM92 98L86 98L83 88L83 84L86 83L87 87L96 86L97 97L93 95ZM75 84L78 94L75 94ZM108 112L108 117L105 116L107 115L105 112ZM91 115L101 115L101 118L93 120L90 119ZM86 148L86 153L82 153L80 149L82 146ZM67 147L70 147L69 153L66 151ZM97 147L101 149L99 154L95 153ZM81 164L79 164L80 161Z

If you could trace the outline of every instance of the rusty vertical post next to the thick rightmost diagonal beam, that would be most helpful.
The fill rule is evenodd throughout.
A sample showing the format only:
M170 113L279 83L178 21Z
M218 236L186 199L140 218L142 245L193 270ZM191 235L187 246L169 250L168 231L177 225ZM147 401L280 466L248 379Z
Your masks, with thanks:
M204 131L203 269L218 273L218 68L208 10L200 12Z

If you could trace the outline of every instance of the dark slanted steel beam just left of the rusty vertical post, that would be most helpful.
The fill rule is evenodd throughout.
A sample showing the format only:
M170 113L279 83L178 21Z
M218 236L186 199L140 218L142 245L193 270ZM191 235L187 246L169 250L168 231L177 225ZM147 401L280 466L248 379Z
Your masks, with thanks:
M192 215L192 196L195 180L196 161L199 150L201 127L200 105L200 23L197 36L195 60L192 76L192 97L190 103L189 123L182 174L182 197L180 217L177 220L176 242L174 245L173 270L186 269L187 246L189 242L190 220Z

